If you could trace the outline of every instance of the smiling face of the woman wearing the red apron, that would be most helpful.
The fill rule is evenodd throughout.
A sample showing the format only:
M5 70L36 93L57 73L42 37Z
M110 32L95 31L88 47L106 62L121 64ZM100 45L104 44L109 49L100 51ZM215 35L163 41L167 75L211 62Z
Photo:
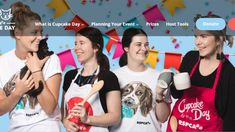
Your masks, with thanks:
M217 53L217 48L222 42L207 31L195 30L195 44L200 56L207 57Z

